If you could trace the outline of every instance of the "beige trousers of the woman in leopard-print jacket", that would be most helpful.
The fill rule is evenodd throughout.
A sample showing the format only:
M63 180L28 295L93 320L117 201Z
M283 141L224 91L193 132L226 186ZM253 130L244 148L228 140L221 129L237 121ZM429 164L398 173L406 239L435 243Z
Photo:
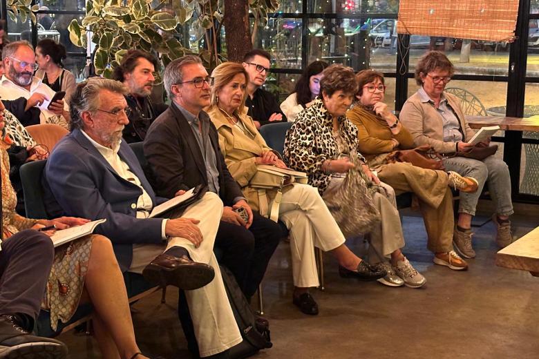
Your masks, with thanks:
M343 181L343 177L332 177L323 197L333 195L337 188L343 184ZM404 235L399 211L397 211L395 191L384 182L380 182L380 185L382 193L375 193L372 196L372 200L380 213L380 222L368 236L370 263L387 262L391 253L404 247ZM354 215L353 208L350 208L350 215Z

